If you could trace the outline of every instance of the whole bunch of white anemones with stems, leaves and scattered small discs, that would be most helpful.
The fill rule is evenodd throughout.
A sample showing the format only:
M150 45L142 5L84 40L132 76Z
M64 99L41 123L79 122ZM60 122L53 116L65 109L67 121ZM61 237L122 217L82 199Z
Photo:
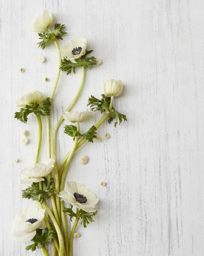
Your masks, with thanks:
M79 222L86 228L88 224L94 221L93 217L98 214L97 203L99 199L95 192L82 183L66 182L70 162L75 151L84 143L93 143L94 140L100 141L100 138L97 137L97 130L103 122L107 120L108 123L112 123L115 119L114 125L116 127L118 122L120 124L126 120L126 116L115 109L114 97L121 95L123 84L120 80L113 79L105 82L105 93L101 95L101 99L92 95L89 97L87 106L90 107L91 111L71 112L83 90L86 69L92 70L93 67L101 64L101 60L90 56L93 51L87 50L86 38L75 38L60 49L58 42L63 40L66 27L60 23L55 23L54 29L52 29L52 22L52 13L45 10L33 24L33 30L38 33L40 39L38 47L45 49L53 43L57 49L59 63L52 92L50 96L44 96L36 90L26 93L17 100L18 111L14 115L17 120L23 123L28 121L28 117L32 113L37 119L38 143L34 163L21 171L23 175L21 184L24 186L22 197L32 199L37 206L22 209L17 214L11 233L16 241L29 242L26 250L34 251L40 248L43 254L48 256L47 245L52 242L53 256L72 256L73 239L80 236L79 233L75 233L75 229ZM63 59L61 55L63 55ZM39 61L44 62L45 58L41 56ZM78 92L55 125L51 140L51 105L60 73L63 71L69 75L72 72L76 73L78 68L82 69ZM20 71L23 72L23 69ZM89 130L82 133L80 126L94 111L100 111L103 116ZM44 153L45 160L38 163L44 128L41 118L46 119L47 152ZM62 163L59 164L57 163L57 131L64 119L68 121L68 124L64 126L64 133L73 137L73 145ZM24 135L23 143L26 144L28 131L24 131ZM108 138L109 134L104 136ZM41 152L41 154L43 153ZM87 161L86 156L80 158L81 164L86 164ZM105 183L101 183L101 185L104 186ZM74 219L74 224L67 223L66 215L69 215L71 221Z

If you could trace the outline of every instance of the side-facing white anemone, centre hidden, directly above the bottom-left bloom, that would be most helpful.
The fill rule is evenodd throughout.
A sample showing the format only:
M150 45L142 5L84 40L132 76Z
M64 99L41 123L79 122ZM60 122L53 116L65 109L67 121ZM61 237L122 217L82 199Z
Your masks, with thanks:
M24 168L20 173L25 175L20 183L25 186L31 186L33 182L37 183L43 181L44 178L48 176L54 168L55 160L48 158L43 163L36 163L30 167Z

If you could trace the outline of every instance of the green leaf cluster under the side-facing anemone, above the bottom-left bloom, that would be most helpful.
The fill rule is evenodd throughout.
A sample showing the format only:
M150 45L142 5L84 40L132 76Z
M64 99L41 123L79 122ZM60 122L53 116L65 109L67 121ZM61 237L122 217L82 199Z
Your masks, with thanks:
M34 182L31 186L22 190L22 197L43 203L45 200L49 199L52 194L56 195L57 193L55 192L54 178L51 178L49 181L46 177L43 178L45 180L42 181L43 189L40 189L38 183Z

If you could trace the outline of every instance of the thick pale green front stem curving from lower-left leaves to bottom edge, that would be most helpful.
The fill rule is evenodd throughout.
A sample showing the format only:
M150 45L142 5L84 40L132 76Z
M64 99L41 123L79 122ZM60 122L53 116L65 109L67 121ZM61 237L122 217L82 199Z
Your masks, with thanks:
M57 232L57 236L58 236L59 244L60 244L59 256L64 256L64 241L63 241L63 236L62 236L60 226L57 223L57 220L56 220L54 214L52 213L51 209L49 209L49 206L46 203L46 201L44 201L44 207L45 207L46 212L48 213L49 217L51 218L52 223L54 224L56 232Z

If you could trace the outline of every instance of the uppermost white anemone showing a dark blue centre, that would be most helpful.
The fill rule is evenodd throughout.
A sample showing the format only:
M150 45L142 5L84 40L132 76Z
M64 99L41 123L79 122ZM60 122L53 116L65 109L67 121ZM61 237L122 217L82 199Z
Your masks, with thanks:
M60 52L69 60L76 60L86 53L86 47L86 38L75 38L69 44L64 45Z

